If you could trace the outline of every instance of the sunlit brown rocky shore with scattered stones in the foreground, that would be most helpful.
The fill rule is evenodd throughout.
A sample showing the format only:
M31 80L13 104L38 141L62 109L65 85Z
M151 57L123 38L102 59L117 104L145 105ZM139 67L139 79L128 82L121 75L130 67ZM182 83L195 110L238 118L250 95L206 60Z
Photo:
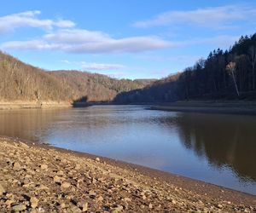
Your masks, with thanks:
M149 173L105 158L3 138L0 211L256 211L255 196L178 176L168 178L157 171Z

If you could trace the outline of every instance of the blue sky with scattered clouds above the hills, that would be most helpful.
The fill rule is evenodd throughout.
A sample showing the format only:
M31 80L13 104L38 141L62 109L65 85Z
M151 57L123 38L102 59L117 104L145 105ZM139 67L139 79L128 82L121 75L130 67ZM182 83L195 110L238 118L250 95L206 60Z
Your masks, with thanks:
M46 70L164 78L256 29L256 1L9 0L0 49Z

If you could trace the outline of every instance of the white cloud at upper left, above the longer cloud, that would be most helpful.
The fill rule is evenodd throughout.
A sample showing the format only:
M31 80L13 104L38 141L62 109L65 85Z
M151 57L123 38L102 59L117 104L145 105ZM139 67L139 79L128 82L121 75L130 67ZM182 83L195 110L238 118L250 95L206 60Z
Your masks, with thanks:
M75 26L71 20L39 19L38 10L26 11L19 14L9 14L0 17L0 33L10 32L18 27L39 27L51 30L53 27L69 28Z

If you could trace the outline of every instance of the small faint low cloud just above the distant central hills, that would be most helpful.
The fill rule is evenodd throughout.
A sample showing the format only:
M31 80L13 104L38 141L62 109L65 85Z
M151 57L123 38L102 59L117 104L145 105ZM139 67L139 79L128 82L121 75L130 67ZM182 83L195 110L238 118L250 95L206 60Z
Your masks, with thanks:
M105 70L121 70L124 69L124 65L120 64L101 64L101 63L88 63L81 62L81 66L84 70L87 71L105 71Z

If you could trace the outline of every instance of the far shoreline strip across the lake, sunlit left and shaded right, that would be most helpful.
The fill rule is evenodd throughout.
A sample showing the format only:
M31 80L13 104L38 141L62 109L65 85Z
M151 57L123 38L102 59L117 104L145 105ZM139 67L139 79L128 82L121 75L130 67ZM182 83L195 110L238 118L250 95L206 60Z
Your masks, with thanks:
M91 107L91 106L111 106L119 105L116 103L70 103L56 101L14 101L1 102L0 110L13 109L54 109L54 108L73 108L73 107ZM138 106L148 106L150 110L162 110L172 112L199 112L199 113L220 113L220 114L241 114L256 115L255 101L177 101L171 103L138 103L128 104Z

